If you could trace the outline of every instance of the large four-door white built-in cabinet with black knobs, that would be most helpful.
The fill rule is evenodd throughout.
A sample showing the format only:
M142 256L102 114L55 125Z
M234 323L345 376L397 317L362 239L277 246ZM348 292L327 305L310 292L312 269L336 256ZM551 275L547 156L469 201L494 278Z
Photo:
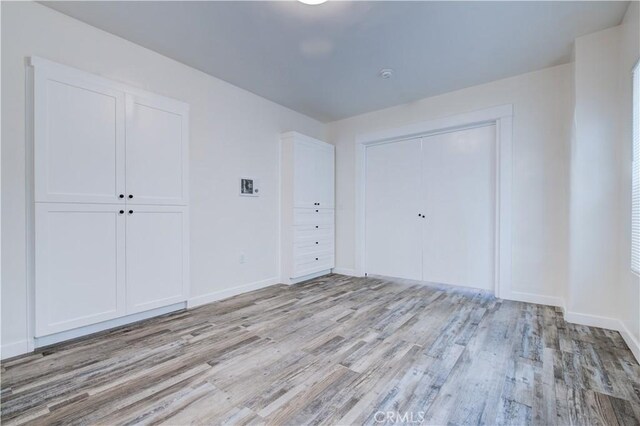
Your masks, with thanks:
M186 301L188 105L32 65L35 337Z

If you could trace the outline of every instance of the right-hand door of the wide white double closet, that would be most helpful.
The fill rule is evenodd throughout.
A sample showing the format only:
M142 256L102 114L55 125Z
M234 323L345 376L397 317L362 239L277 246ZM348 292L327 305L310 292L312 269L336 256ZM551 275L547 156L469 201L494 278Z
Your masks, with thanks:
M495 126L423 139L423 280L494 288Z

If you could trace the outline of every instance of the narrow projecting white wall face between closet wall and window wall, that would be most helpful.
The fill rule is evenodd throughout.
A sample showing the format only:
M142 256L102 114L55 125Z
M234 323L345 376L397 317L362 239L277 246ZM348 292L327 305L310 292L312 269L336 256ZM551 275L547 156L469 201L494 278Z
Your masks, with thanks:
M619 29L575 41L575 140L571 158L571 256L567 308L616 316L620 180Z

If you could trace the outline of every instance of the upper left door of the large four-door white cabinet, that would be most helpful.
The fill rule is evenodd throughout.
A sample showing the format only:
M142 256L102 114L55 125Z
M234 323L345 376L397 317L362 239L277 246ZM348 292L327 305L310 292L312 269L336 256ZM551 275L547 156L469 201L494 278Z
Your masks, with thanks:
M35 200L118 202L124 93L55 66L34 72Z

